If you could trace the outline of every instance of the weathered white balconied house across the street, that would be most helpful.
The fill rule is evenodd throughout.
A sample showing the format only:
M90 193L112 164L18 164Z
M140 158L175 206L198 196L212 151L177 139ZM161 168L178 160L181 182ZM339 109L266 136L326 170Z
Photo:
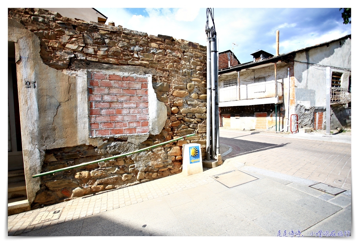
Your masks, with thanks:
M331 129L351 127L351 35L279 56L262 50L252 55L252 62L219 70L224 127L290 131L297 114L299 128L324 130L327 89Z

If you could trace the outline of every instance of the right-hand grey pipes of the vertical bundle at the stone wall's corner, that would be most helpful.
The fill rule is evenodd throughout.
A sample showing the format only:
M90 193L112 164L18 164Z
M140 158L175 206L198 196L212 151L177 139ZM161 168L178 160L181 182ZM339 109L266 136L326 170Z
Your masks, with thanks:
M216 84L215 84L215 39L211 38L211 118L212 118L212 136L211 136L211 159L215 159L216 146Z

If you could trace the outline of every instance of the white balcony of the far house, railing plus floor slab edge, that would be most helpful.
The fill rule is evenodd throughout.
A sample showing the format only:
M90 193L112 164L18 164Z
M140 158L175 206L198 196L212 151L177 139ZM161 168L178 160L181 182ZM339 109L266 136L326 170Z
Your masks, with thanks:
M222 106L279 103L283 100L283 83L277 81L277 97L274 80L248 85L219 88L219 102ZM236 102L238 101L238 102ZM228 103L230 102L230 103ZM221 106L222 105L222 106Z

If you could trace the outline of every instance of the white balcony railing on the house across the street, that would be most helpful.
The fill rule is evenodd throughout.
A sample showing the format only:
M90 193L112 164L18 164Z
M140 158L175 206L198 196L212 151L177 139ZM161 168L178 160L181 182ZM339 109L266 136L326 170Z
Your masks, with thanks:
M277 81L277 95L283 96L282 82ZM238 97L239 94L239 97ZM237 101L243 99L275 97L274 80L267 82L258 82L239 87L225 87L219 89L219 102ZM238 99L239 98L239 99Z

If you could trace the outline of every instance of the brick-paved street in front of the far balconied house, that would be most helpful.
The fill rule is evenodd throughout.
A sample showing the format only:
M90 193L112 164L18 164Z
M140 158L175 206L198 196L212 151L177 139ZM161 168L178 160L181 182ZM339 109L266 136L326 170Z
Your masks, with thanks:
M240 156L238 160L249 166L351 189L350 143L226 129L220 130L220 136L233 148L224 159Z

